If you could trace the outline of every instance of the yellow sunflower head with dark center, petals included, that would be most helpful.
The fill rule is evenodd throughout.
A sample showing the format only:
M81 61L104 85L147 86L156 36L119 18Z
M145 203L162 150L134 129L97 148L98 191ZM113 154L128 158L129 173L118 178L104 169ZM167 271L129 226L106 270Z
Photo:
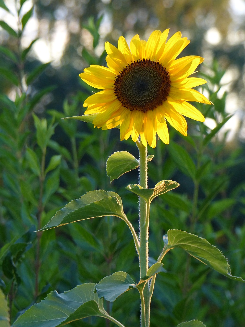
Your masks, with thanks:
M181 134L187 135L183 117L204 121L204 116L187 101L211 104L192 88L206 81L188 77L203 62L199 56L176 59L189 44L181 32L168 41L169 29L154 31L148 41L135 35L130 46L123 36L116 48L106 42L108 67L91 65L79 76L87 84L102 91L89 96L85 114L97 114L94 127L111 129L120 126L121 141L139 135L144 146L156 146L156 134L169 144L166 121Z

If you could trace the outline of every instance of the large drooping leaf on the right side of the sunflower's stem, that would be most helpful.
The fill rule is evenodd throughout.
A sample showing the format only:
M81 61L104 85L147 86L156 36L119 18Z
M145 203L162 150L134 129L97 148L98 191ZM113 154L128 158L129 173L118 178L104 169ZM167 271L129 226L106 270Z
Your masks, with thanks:
M165 235L166 236L166 235ZM231 275L228 260L222 252L206 239L177 229L168 231L168 249L181 248L205 265L231 279L245 282L241 277Z

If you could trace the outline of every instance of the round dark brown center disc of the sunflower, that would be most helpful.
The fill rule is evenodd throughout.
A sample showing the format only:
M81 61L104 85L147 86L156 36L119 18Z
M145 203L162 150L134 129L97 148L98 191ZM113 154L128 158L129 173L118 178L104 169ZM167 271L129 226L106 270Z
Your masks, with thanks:
M114 93L123 107L147 112L167 100L171 81L159 62L149 59L132 62L116 76Z

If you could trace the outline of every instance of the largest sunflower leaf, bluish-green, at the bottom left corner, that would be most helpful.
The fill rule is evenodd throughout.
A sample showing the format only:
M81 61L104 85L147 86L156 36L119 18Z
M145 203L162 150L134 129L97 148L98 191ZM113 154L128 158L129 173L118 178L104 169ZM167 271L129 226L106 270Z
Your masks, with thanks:
M106 317L103 299L94 293L94 286L86 283L62 294L53 291L25 311L12 327L55 327L89 316Z

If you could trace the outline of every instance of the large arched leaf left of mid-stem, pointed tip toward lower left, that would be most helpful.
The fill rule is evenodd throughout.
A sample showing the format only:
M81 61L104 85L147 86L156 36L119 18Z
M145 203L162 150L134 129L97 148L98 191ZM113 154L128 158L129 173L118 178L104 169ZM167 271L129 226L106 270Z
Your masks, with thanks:
M69 202L56 213L41 231L75 221L103 216L117 216L124 219L122 200L115 192L94 190L87 192L79 199Z

